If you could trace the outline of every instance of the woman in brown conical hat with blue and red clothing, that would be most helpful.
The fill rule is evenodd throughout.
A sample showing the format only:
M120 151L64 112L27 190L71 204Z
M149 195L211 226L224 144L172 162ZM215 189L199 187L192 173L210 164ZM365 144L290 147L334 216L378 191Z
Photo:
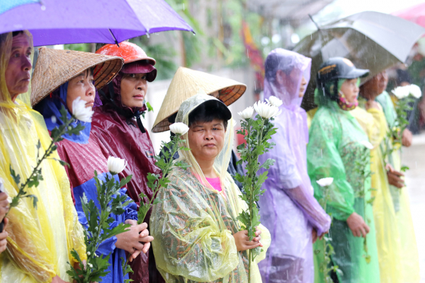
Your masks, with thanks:
M120 57L111 57L86 52L40 49L38 62L34 71L32 101L34 109L42 114L47 129L52 130L62 125L60 109L64 107L68 114L76 107L75 100L83 100L86 108L92 108L96 98L96 87L102 87L118 74L123 65ZM48 86L48 89L42 86ZM39 102L40 101L40 102ZM35 104L37 103L37 104ZM88 220L82 209L84 195L88 200L97 202L97 189L94 181L94 171L103 180L108 173L108 151L99 144L90 133L91 122L77 120L84 125L79 135L67 135L57 143L60 158L69 163L67 175L71 183L74 202L83 226ZM118 175L114 175L118 179ZM122 177L122 176L121 176ZM125 189L120 190L125 195ZM128 198L130 200L130 198ZM143 251L147 253L152 237L148 236L147 224L137 225L137 206L131 202L123 207L125 212L120 215L110 214L114 219L111 227L120 223L131 224L130 230L120 233L101 243L96 253L109 255L107 275L102 282L124 282L128 275L123 276L123 261L125 252L130 253L130 261ZM140 242L147 242L144 246Z

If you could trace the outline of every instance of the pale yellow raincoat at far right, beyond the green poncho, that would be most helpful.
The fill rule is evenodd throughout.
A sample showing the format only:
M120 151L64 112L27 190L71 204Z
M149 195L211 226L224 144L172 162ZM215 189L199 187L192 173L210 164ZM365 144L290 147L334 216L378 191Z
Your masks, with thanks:
M385 144L382 142L383 133L387 135L388 126L384 112L376 109L364 109L364 99L359 99L359 107L351 111L359 124L368 134L374 149L370 151L370 169L372 175L373 218L375 220L376 242L380 264L380 282L404 283L419 282L419 265L416 248L416 239L410 216L409 199L405 189L399 190L399 209L395 206L387 179L382 150ZM383 120L382 120L383 117ZM392 158L398 161L395 164L399 170L399 152L394 151ZM398 157L398 158L397 158ZM398 190L398 189L397 189ZM398 204L399 203L399 204ZM395 225L397 223L397 225ZM404 248L407 246L407 248Z

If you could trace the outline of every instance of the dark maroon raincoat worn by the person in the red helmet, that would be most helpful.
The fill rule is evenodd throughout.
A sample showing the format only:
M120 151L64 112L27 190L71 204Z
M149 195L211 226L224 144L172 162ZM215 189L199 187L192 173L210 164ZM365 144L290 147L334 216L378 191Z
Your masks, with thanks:
M119 90L117 88L119 83L120 76L118 75L118 79L115 78L113 80L115 93ZM155 166L152 141L147 132L143 133L137 127L137 122L134 118L118 114L116 105L121 105L118 99L115 100L115 105L111 101L107 102L107 100L103 99L102 103L103 105L94 108L91 135L96 137L108 149L111 156L123 158L128 162L123 171L125 176L132 175L132 180L127 184L127 194L139 205L139 194L141 192L145 193L149 198L152 197L152 190L147 187L147 173L161 173L159 168ZM120 111L128 113L131 110L130 108L120 107ZM147 202L146 198L145 202ZM145 219L147 224L149 224L150 214L151 211L149 210ZM151 258L151 260L148 260L148 258ZM131 267L134 273L130 273L130 279L133 279L134 282L164 282L156 270L152 248L149 249L149 256L141 253L140 256L133 260ZM150 280L149 269L151 270ZM159 275L159 278L152 278L156 277L156 275Z

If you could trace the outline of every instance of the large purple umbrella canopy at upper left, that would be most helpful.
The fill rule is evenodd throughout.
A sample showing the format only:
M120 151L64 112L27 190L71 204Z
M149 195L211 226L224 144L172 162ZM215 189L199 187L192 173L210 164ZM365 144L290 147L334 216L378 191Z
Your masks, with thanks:
M24 0L16 0L19 1ZM42 5L24 3L0 14L0 33L15 30L30 30L34 46L116 43L165 30L193 32L191 26L164 0L43 0Z

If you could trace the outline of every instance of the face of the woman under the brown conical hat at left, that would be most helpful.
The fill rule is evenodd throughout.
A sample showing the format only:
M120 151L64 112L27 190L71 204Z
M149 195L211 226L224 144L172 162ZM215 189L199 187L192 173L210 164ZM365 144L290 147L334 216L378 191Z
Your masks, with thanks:
M93 74L90 70L86 70L68 81L67 91L67 107L69 112L72 112L72 101L78 97L86 101L86 107L92 108L94 98L96 96L96 88L94 87Z

